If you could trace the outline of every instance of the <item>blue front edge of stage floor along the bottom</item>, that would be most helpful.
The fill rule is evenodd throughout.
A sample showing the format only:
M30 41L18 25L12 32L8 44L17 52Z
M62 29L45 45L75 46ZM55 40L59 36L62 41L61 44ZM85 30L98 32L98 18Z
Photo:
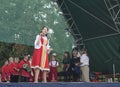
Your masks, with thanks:
M120 83L0 83L0 87L120 87Z

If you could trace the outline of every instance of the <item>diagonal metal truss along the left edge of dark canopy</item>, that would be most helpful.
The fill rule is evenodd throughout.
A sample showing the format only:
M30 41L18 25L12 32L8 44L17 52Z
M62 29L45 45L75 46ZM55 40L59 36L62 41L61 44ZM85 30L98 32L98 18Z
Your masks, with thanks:
M62 12L63 12L62 15L65 17L67 24L69 26L68 29L66 29L66 30L67 30L67 32L71 33L71 35L73 36L74 45L76 47L78 47L79 49L81 49L81 47L85 47L82 35L72 17L72 14L71 14L65 0L60 0L60 1L61 1L61 3L59 3L59 1L57 1L57 3L59 5L60 10L62 10ZM77 32L77 33L74 33L74 32Z

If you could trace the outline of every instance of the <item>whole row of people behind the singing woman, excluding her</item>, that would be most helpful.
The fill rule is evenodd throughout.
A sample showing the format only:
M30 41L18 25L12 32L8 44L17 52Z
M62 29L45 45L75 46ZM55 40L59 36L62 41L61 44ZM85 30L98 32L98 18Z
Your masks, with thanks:
M47 72L48 82L58 82L60 76L63 76L65 82L89 82L89 59L86 56L86 51L73 49L72 58L68 51L64 52L62 63L57 61L57 54L52 53L49 60L50 71ZM62 64L62 71L58 72L58 67ZM34 82L35 71L31 68L32 57L25 54L22 60L18 57L10 57L4 61L1 68L1 82ZM43 71L40 70L38 80L43 80Z

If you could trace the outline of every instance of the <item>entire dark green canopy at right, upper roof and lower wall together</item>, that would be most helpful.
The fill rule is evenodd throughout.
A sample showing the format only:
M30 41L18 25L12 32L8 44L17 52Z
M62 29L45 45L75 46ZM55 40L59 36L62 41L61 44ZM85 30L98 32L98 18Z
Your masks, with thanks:
M120 0L58 0L57 3L74 39L82 37L78 44L83 43L88 49L91 71L112 73L115 64L116 72L120 72ZM77 38L75 29L80 32Z

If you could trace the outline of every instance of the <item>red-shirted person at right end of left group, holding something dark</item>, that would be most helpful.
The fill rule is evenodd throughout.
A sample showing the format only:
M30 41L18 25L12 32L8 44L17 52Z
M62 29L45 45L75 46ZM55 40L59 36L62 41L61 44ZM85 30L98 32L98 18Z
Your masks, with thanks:
M24 55L24 59L19 63L21 72L21 82L28 82L30 76L30 63L28 61L28 55Z

